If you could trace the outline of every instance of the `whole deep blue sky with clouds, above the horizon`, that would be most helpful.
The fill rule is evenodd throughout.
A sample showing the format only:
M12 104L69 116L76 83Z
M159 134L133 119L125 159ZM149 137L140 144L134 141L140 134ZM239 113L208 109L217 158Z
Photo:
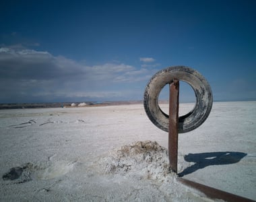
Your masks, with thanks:
M175 65L215 101L256 100L256 1L0 2L1 103L142 100Z

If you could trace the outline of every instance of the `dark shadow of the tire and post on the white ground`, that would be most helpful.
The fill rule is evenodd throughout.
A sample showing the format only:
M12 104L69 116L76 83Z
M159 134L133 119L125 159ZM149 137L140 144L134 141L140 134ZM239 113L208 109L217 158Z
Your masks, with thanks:
M199 153L199 154L188 154L184 156L185 161L195 162L195 164L193 164L193 166L189 166L188 168L185 168L183 172L179 173L179 176L185 176L187 174L191 174L192 172L195 172L207 166L235 164L245 156L247 156L247 154L243 152L235 152L235 151L220 151L220 152L208 152L208 153Z

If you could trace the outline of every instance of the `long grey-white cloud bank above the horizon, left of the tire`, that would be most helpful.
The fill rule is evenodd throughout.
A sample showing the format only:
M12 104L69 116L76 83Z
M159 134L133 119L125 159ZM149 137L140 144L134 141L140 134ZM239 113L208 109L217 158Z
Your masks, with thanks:
M0 102L51 102L69 98L126 99L137 82L146 83L153 69L124 63L85 65L47 51L0 48ZM146 84L145 84L146 85ZM132 98L131 98L132 99ZM32 100L32 101L29 101Z

